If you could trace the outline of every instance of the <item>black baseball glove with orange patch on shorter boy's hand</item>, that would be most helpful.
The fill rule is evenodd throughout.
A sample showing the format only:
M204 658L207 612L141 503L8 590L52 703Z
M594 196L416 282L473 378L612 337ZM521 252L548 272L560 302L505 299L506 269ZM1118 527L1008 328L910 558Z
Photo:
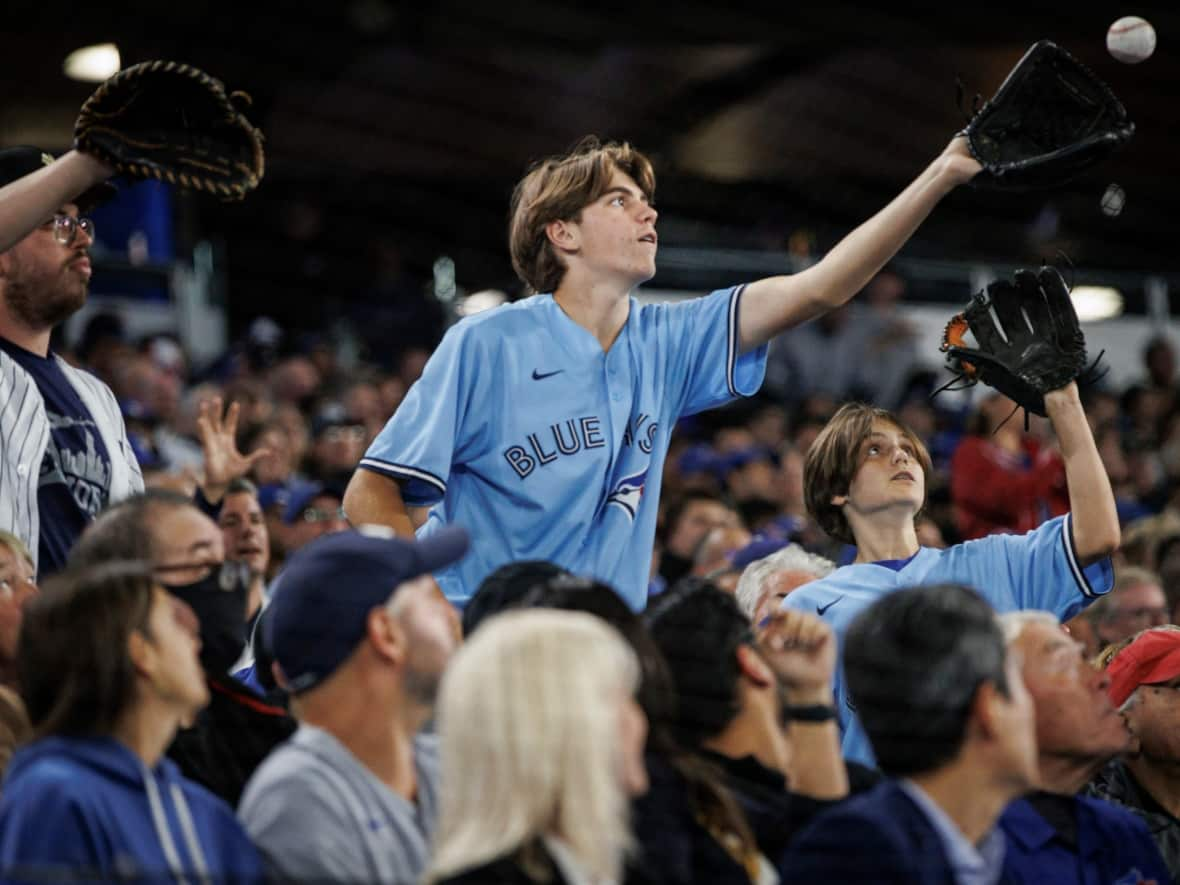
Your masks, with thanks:
M966 346L968 330L976 347ZM1044 394L1086 369L1086 336L1069 289L1049 267L1017 270L1015 286L1001 280L972 296L946 323L942 350L966 384L983 381L1042 417Z

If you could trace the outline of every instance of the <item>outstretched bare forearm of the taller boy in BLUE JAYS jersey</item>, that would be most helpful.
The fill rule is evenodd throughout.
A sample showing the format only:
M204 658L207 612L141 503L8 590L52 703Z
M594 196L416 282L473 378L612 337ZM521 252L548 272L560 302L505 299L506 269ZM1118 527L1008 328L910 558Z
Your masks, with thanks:
M848 301L905 245L938 202L979 169L966 139L956 137L892 203L821 261L792 276L771 276L747 286L739 313L742 350Z

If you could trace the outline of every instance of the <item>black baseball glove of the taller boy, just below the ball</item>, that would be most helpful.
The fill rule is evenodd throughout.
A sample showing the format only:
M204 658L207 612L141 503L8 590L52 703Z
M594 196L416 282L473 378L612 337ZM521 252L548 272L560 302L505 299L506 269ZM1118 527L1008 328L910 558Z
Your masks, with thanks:
M963 130L983 165L971 183L1007 190L1068 182L1134 132L1114 92L1049 40L1024 53Z

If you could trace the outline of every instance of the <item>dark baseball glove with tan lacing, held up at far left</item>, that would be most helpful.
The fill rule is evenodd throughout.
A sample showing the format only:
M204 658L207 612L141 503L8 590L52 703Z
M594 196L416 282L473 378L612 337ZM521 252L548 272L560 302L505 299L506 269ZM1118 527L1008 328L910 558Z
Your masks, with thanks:
M131 178L241 199L263 173L262 133L235 101L242 92L177 61L144 61L106 80L86 99L74 146Z

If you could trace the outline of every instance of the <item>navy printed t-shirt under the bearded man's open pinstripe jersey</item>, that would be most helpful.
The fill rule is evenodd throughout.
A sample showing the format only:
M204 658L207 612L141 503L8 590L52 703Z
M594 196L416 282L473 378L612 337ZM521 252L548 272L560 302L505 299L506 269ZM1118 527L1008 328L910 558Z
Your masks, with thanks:
M111 455L93 415L53 354L40 356L2 337L0 348L33 378L50 419L37 491L38 569L44 577L65 565L83 529L107 505Z

